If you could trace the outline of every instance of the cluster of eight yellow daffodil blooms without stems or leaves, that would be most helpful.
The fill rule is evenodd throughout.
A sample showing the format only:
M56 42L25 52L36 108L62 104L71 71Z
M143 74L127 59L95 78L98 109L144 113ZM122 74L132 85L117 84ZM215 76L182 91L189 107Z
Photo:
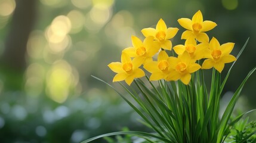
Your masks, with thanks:
M214 67L218 72L224 69L224 64L236 60L230 55L235 43L224 43L220 45L216 38L209 41L205 32L217 26L213 21L203 21L201 11L189 18L180 18L178 23L186 29L181 35L181 39L186 40L184 45L173 47L177 57L169 56L166 51L171 51L171 39L178 32L176 27L168 27L162 18L156 24L156 29L146 28L141 32L145 39L131 36L132 46L122 51L121 62L112 62L108 66L115 73L113 82L125 80L131 85L135 78L145 76L143 68L149 73L150 80L181 80L188 85L192 73L199 69L211 69ZM158 54L156 61L153 56ZM204 60L202 66L199 60Z

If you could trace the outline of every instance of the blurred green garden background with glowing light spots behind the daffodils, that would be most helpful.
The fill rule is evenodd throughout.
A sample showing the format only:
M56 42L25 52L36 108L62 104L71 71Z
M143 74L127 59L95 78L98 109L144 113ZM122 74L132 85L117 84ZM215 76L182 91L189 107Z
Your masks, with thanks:
M238 0L0 0L0 142L80 142L102 133L148 130L112 83L107 64L119 61L131 35L163 18L180 31L177 19L201 10L218 26L209 37L235 42L238 54L222 105L256 66L256 1ZM227 72L228 67L223 71ZM253 74L239 99L239 111L255 108ZM115 85L115 84L114 84ZM120 89L122 90L122 89ZM255 113L249 114L251 119ZM97 142L104 142L98 140Z

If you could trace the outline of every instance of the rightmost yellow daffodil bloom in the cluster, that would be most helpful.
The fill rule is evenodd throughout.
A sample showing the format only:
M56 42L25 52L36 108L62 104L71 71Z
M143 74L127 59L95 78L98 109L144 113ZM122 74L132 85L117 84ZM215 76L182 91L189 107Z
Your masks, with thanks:
M233 55L230 55L235 43L224 43L220 45L217 39L212 38L209 42L209 52L203 61L202 69L211 69L214 67L220 73L224 69L224 64L231 63L236 60Z

